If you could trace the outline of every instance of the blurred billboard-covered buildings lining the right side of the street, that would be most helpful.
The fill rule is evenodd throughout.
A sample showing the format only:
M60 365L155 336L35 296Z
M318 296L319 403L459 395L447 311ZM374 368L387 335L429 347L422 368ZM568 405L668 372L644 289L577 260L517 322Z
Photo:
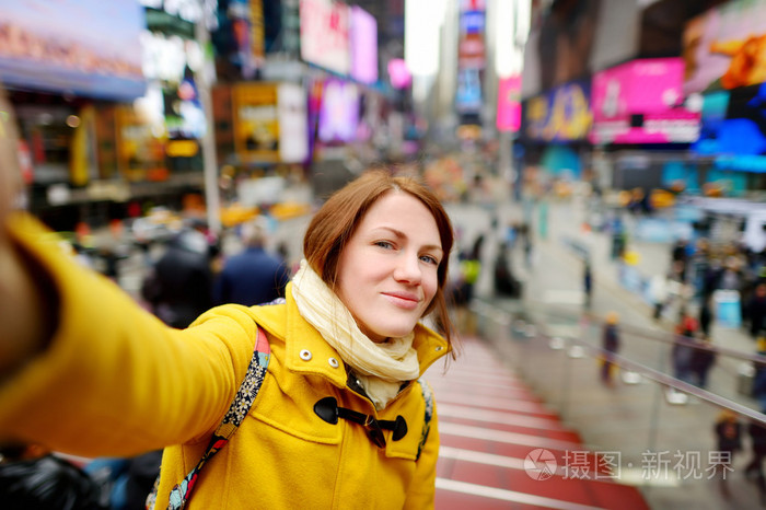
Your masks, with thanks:
M763 1L533 2L521 166L602 188L763 190L765 14Z

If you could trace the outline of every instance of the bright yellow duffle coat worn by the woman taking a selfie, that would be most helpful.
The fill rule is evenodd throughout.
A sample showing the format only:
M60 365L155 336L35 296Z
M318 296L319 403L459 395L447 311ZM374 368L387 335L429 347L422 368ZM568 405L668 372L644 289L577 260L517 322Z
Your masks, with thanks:
M56 286L60 315L49 347L0 385L0 438L86 456L167 447L156 503L165 508L245 375L257 322L271 348L268 373L240 429L202 470L187 508L433 507L436 412L416 462L425 419L418 385L375 412L349 387L338 353L300 316L290 287L283 304L219 306L185 331L172 329L46 246L34 220L16 218L11 227ZM421 373L449 350L421 325L415 348ZM393 441L386 430L386 448L379 449L364 427L345 419L330 425L314 413L327 396L379 419L402 415L408 432Z

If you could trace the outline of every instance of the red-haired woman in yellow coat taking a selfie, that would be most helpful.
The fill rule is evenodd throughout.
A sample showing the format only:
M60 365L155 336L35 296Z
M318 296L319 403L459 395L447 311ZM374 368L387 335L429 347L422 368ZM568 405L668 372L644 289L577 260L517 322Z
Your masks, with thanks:
M156 508L190 485L192 509L433 506L439 437L417 379L452 349L453 237L414 179L348 184L311 221L283 302L219 306L183 331L56 253L34 220L3 223L0 438L86 456L165 448ZM444 337L420 324L430 312ZM254 355L256 324L270 358ZM269 359L252 408L181 483L251 359Z

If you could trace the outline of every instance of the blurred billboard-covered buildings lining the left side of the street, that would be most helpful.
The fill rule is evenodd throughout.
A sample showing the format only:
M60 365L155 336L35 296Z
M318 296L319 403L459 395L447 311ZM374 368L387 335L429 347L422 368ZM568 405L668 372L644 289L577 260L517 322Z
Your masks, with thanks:
M408 78L392 84L387 66L403 57L403 0L36 9L22 1L3 14L0 76L27 206L56 230L154 205L204 213L212 153L214 192L263 208L279 197L272 185L254 192L255 179L321 173L312 184L329 192L372 161L417 151Z

